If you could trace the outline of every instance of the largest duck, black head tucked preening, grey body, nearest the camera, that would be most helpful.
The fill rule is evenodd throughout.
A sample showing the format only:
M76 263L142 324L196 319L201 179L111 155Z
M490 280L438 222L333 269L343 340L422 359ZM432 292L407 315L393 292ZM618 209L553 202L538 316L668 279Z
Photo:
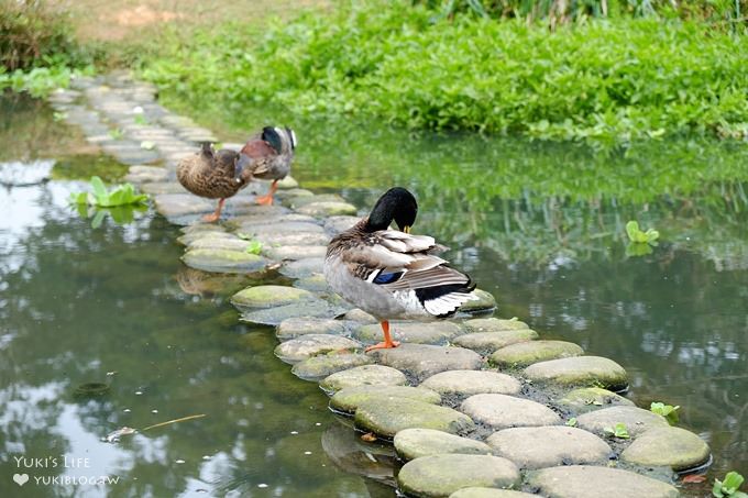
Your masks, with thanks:
M399 345L389 335L392 319L448 318L475 299L471 278L433 254L446 247L428 235L410 234L417 213L413 193L392 188L369 217L328 245L324 278L332 290L382 325L384 342L366 351ZM389 229L393 220L400 231Z

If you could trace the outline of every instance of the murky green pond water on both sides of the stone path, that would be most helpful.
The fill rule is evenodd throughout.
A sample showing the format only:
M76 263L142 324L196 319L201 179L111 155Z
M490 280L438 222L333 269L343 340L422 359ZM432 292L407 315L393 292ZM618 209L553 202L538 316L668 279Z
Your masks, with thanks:
M272 329L238 324L228 297L249 281L184 268L178 230L151 212L92 229L66 198L78 178L117 177L121 166L92 155L38 102L6 98L0 108L3 167L52 167L54 178L0 186L0 496L393 496L337 465L377 476L386 449L359 451L317 386L273 356ZM198 118L237 139L246 123L278 117ZM342 191L362 209L392 185L413 189L416 232L452 246L449 257L496 296L497 314L617 361L639 406L680 405L681 425L713 449L710 480L748 474L745 145L602 155L345 123L295 128L304 187ZM651 253L627 247L630 219L660 230ZM87 383L109 387L76 395ZM206 417L142 430L195 414ZM101 441L122 427L141 431ZM14 473L31 480L20 488ZM119 482L35 483L50 476Z

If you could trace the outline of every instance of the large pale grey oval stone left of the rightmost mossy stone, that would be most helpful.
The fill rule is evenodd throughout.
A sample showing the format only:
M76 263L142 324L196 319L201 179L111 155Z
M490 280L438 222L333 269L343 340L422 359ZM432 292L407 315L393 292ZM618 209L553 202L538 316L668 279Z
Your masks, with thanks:
M595 434L563 425L505 429L488 436L486 443L520 468L598 463L612 452Z

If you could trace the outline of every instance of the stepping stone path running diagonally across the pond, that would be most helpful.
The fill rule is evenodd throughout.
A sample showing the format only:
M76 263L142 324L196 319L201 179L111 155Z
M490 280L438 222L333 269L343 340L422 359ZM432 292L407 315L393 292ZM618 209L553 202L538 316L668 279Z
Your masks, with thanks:
M255 327L238 344L279 341L275 353L293 364L292 372L334 392L331 408L352 416L339 417L343 423L322 435L324 452L340 468L419 497L597 498L614 489L619 498L664 498L678 490L644 474L708 461L708 446L697 435L612 392L628 385L617 363L583 356L572 343L539 340L517 319L460 313L455 321L397 322L399 347L364 354L362 342L381 340L377 320L330 292L321 275L330 237L355 224L364 210L287 177L278 184L275 206L256 206L255 196L268 188L256 181L226 202L219 222L205 223L200 218L216 201L187 192L176 181L176 167L200 142L217 137L162 107L155 87L125 74L76 78L72 86L50 96L51 106L91 144L131 165L127 180L152 196L158 214L183 226L177 242L185 246L185 266L174 292L233 294L240 320L277 325L276 337ZM250 254L256 242L260 254ZM275 285L256 285L263 280ZM255 285L242 289L250 281ZM496 308L490 292L475 295L461 312ZM234 312L226 319L221 313L217 310L217 320L235 322ZM492 365L512 375L492 372ZM308 390L288 372L260 375L284 399ZM460 401L460 411L450 408ZM576 428L561 425L550 407L575 417ZM286 423L278 420L278 430ZM616 423L626 425L629 440L606 435ZM373 434L364 441L353 425ZM279 444L297 444L300 436ZM395 449L366 442L374 438L394 438L400 456L410 460L397 479ZM627 471L606 467L608 443ZM316 473L314 465L304 472ZM660 471L650 475L663 478Z

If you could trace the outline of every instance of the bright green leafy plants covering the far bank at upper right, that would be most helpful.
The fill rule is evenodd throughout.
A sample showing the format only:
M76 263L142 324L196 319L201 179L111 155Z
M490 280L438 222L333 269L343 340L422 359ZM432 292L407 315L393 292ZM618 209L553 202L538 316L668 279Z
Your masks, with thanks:
M375 115L410 128L618 144L748 133L746 40L697 23L598 21L549 33L519 21L431 21L366 2L265 36L199 32L146 63L166 91L296 113Z

